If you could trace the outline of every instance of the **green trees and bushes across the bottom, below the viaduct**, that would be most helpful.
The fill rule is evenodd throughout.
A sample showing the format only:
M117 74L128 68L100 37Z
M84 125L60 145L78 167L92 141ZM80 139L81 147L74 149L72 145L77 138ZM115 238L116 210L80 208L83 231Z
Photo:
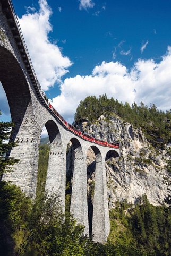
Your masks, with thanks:
M107 105L104 101L101 103L105 109ZM1 131L8 133L8 124L4 126L4 123L1 123L1 125ZM1 152L7 152L9 149L4 146L3 138L5 136L8 138L10 135L6 132L0 134ZM15 144L11 144L10 147L12 146ZM106 244L94 243L93 237L84 236L84 227L76 224L75 219L69 214L71 177L67 177L66 182L65 213L61 210L58 195L48 196L46 191L44 192L48 155L49 146L40 146L38 189L35 200L22 193L19 187L4 181L0 182L1 255L171 255L171 208L152 206L146 195L139 198L135 207L126 201L116 203L115 209L110 211L110 234ZM151 164L150 159L136 160ZM10 163L9 165L11 166ZM7 167L6 164L6 169ZM93 187L94 183L90 191L92 195ZM166 202L171 202L170 195L166 198Z

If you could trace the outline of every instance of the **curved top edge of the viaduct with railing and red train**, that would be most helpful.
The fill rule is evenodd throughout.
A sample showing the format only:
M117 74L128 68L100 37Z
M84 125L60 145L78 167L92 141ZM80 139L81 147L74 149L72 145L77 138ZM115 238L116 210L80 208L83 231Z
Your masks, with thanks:
M6 13L7 20L11 24L11 31L13 33L13 36L14 36L15 40L16 40L16 44L18 45L18 48L19 48L19 51L21 53L21 57L23 59L23 62L25 63L25 68L28 71L28 74L30 76L30 79L32 81L33 86L35 87L35 90L36 90L38 96L41 99L43 99L43 103L46 105L48 110L53 113L53 115L57 118L57 120L59 122L61 122L62 125L67 130L69 130L72 133L80 136L82 139L93 142L93 143L97 143L101 146L119 149L119 143L113 143L113 142L109 143L107 141L102 141L102 140L93 138L93 137L91 137L87 134L84 134L81 131L75 129L75 127L72 126L71 124L67 123L64 120L64 118L51 105L51 103L49 102L45 92L41 90L41 86L40 86L40 83L37 79L36 72L33 68L33 64L31 62L31 58L30 58L27 46L25 44L25 40L24 40L22 31L21 31L21 28L20 28L18 18L15 14L13 4L12 4L11 0L3 0L1 2L2 2L2 6L3 6L3 10Z

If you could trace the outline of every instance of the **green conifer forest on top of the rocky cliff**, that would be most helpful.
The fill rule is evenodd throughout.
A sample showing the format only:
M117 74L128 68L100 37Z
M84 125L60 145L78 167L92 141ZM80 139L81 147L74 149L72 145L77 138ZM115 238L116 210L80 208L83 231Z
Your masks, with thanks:
M117 115L135 127L141 127L148 141L156 148L163 148L171 142L171 109L165 113L159 111L155 104L149 108L142 102L140 106L136 103L130 106L129 103L123 105L113 98L108 99L106 94L99 98L89 96L80 101L76 109L75 125L85 118L94 122L102 114L105 114L107 120Z

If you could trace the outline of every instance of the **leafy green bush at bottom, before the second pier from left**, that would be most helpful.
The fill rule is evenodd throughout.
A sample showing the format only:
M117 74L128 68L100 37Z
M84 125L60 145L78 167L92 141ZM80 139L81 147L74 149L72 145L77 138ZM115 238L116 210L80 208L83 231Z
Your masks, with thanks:
M35 225L36 223L36 225ZM39 195L33 203L29 230L30 246L40 255L83 255L83 226L61 211L57 195Z

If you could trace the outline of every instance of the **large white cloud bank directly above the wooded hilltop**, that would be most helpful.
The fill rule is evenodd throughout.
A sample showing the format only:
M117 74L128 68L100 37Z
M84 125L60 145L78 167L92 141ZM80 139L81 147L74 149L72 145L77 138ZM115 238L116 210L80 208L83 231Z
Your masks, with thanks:
M138 59L128 70L119 62L102 62L93 69L91 75L67 78L61 84L61 94L52 99L53 106L66 119L73 120L76 107L89 95L104 93L123 103L150 105L159 109L170 108L171 98L171 47L159 63L148 59Z

